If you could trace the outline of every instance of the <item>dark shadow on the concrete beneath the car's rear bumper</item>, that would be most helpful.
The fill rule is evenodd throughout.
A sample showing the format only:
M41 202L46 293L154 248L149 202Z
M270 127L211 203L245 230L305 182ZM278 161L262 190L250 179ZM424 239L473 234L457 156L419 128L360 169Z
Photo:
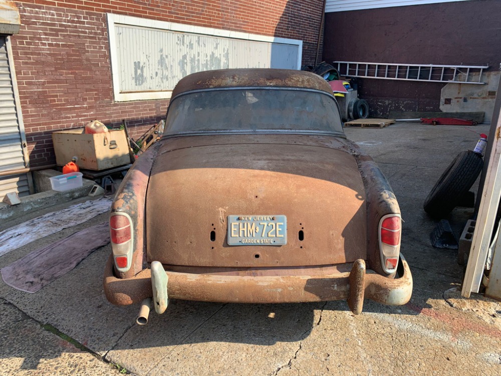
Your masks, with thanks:
M441 297L441 293L437 296ZM172 300L167 311L150 313L146 325L133 325L113 350L176 346L202 342L230 342L271 346L297 342L320 324L325 311L336 316L364 318L366 313L419 315L432 308L421 297L404 306L365 301L362 315L354 315L346 300L314 303L238 304Z

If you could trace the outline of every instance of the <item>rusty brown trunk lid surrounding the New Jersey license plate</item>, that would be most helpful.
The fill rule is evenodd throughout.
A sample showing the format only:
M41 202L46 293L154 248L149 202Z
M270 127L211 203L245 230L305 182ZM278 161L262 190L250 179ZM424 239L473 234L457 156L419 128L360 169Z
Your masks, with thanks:
M207 146L160 146L147 194L148 261L253 267L366 258L365 189L353 155L300 144L308 136L269 143L255 135L245 144L235 144L239 135L227 144L219 137L205 137ZM287 216L286 245L228 246L228 215L272 214Z

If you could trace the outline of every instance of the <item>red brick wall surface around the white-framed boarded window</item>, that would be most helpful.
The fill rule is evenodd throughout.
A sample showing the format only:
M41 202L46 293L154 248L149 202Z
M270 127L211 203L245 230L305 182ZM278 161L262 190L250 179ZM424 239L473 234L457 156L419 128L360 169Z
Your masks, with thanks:
M12 37L32 166L55 161L51 133L98 119L131 124L137 137L165 115L167 100L114 102L106 13L303 40L313 64L322 0L31 0L17 3Z

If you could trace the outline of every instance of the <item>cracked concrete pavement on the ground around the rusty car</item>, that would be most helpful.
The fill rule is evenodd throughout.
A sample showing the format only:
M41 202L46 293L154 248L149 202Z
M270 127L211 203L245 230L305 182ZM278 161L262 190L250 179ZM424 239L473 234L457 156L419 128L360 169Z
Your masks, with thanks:
M378 162L399 201L405 220L402 253L414 278L408 304L389 307L366 300L364 312L355 316L345 301L174 300L165 314L153 311L147 325L137 326L138 306L115 307L103 296L103 268L111 251L107 246L36 294L0 282L0 375L118 374L107 363L112 362L141 376L498 376L501 303L458 296L462 267L454 251L430 246L436 222L422 210L443 169L459 151L474 147L478 136L468 128L402 123L346 129ZM472 129L480 133L488 127ZM462 229L471 213L455 209L449 218L453 229ZM0 258L0 267L99 221L97 217L16 250ZM92 353L40 323L54 326Z

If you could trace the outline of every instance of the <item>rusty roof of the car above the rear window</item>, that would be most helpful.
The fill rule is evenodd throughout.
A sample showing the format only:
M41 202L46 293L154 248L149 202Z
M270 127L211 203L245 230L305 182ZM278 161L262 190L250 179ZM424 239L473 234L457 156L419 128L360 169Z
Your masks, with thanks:
M320 76L290 69L219 69L190 74L182 78L172 92L176 95L192 91L231 87L286 87L315 89L332 95L332 89Z

